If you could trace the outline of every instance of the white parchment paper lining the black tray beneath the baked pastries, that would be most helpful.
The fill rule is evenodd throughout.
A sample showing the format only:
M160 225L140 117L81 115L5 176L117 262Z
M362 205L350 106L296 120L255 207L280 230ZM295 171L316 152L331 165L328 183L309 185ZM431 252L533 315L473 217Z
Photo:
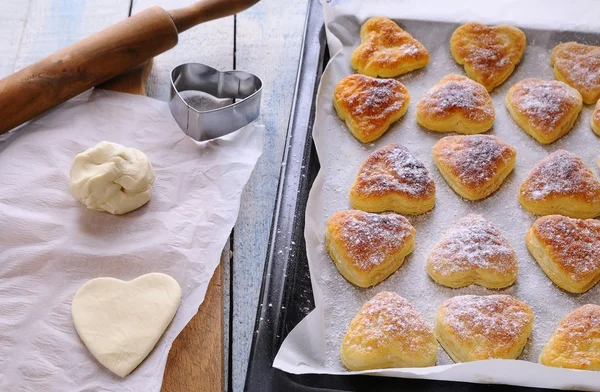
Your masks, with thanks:
M556 369L537 362L543 345L559 320L586 303L600 303L600 286L585 294L566 293L554 286L529 255L525 233L536 217L523 210L517 200L520 184L535 163L557 149L580 156L596 173L600 140L592 132L591 106L582 110L573 130L559 141L543 146L526 135L512 120L504 105L508 89L519 80L538 77L552 80L551 49L561 41L577 40L600 44L600 21L591 17L600 11L595 1L573 1L559 6L541 1L375 1L325 4L327 38L335 54L323 74L318 97L314 143L321 170L310 192L306 208L305 240L316 309L284 341L274 366L291 373L376 374L393 377L455 380L479 383L506 383L523 386L600 390L600 373ZM485 6L484 6L485 4ZM597 12L595 12L597 15ZM429 65L398 79L406 85L411 102L407 114L378 141L363 145L352 137L339 120L332 105L337 82L353 73L350 54L359 44L361 24L371 16L395 19L429 50ZM594 20L595 19L595 20ZM487 199L470 202L448 186L431 158L435 142L448 134L428 131L417 125L416 102L449 73L464 75L450 55L449 40L460 23L480 21L488 24L511 23L525 29L528 45L524 58L513 75L492 93L496 122L488 132L517 149L517 163L502 187ZM556 30L556 31L551 31ZM575 33L566 33L572 30ZM577 33L581 32L581 33ZM379 285L360 289L348 283L329 258L324 244L327 219L335 211L352 208L348 192L362 162L388 143L406 146L424 162L437 189L433 211L409 217L417 230L415 249L404 265ZM443 233L458 219L478 213L498 225L516 251L519 262L517 282L503 290L479 286L450 289L433 282L425 263L429 251ZM407 298L433 324L439 305L447 298L477 294L506 293L527 302L535 311L534 331L520 360L489 360L453 364L439 347L438 366L421 369L385 369L348 372L339 360L339 347L352 318L365 301L380 291L395 291Z

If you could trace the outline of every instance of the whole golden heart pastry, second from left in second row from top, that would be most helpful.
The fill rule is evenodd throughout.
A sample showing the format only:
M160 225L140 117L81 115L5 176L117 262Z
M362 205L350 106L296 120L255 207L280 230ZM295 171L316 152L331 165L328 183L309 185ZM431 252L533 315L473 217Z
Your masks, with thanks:
M494 124L495 115L485 87L455 74L444 76L417 103L417 122L432 131L485 132Z

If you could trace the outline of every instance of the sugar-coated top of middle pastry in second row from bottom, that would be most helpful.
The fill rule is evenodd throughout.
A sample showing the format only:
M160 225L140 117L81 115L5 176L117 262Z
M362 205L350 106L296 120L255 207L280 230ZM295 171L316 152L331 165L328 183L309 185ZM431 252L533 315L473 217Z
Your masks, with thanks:
M517 261L510 243L492 222L468 215L454 224L430 253L429 266L440 275L475 269L516 274Z

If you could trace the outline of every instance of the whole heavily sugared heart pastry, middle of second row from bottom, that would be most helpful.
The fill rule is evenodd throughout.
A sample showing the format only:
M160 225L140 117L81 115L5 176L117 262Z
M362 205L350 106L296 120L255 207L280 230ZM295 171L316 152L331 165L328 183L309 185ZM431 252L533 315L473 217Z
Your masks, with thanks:
M456 222L427 258L429 276L453 288L478 284L501 289L514 283L517 271L510 243L481 215L467 215Z

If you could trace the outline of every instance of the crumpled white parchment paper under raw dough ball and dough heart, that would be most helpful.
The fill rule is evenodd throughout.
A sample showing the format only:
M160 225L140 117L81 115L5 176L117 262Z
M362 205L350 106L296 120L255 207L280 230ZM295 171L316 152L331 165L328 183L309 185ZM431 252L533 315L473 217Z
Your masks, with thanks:
M147 205L113 216L70 196L73 157L103 140L146 153L156 173ZM159 391L171 343L204 300L262 145L256 124L195 142L167 103L102 90L0 138L0 390ZM181 306L154 351L121 379L80 341L71 300L89 279L149 272L179 282Z

